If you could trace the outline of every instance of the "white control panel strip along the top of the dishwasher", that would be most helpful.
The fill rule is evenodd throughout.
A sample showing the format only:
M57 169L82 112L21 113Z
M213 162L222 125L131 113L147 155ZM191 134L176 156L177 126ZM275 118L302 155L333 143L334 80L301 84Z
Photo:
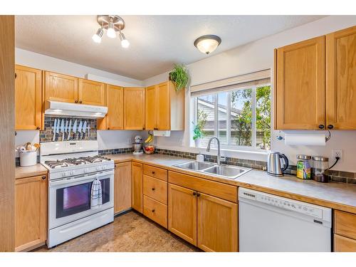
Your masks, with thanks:
M239 187L239 199L240 198L251 199L253 201L258 201L264 204L268 204L270 206L276 206L281 209L296 211L300 214L306 214L309 216L313 216L315 218L331 221L331 213L330 216L329 216L329 212L323 213L324 210L326 211L328 209L328 208L324 208L323 206L308 204L293 199L286 199L284 197L277 197L274 196L273 194L257 192L242 187Z

